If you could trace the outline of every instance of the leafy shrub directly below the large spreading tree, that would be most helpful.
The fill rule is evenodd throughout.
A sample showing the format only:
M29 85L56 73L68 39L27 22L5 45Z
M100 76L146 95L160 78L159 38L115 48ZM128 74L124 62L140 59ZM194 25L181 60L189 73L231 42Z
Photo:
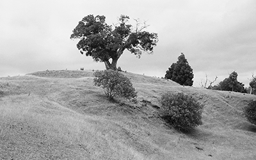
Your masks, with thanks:
M109 99L122 97L129 100L136 100L137 92L132 87L129 78L115 70L97 70L93 74L95 86L101 86Z

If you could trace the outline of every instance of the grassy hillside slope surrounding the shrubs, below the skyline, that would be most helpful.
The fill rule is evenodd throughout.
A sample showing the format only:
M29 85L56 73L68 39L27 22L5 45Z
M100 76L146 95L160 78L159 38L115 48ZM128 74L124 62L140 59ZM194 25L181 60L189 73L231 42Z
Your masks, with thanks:
M124 73L138 104L109 102L92 71L0 78L0 159L256 159L256 127L243 116L255 95L180 86ZM204 104L203 125L180 132L161 118L161 93Z

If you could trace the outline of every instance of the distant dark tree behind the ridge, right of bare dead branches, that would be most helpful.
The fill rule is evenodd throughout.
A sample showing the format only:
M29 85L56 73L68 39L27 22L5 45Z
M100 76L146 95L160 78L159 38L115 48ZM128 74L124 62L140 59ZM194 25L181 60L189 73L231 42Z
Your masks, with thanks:
M242 92L245 93L244 84L237 81L237 72L232 72L228 78L225 78L217 86L214 86L213 90L225 90L232 92Z

